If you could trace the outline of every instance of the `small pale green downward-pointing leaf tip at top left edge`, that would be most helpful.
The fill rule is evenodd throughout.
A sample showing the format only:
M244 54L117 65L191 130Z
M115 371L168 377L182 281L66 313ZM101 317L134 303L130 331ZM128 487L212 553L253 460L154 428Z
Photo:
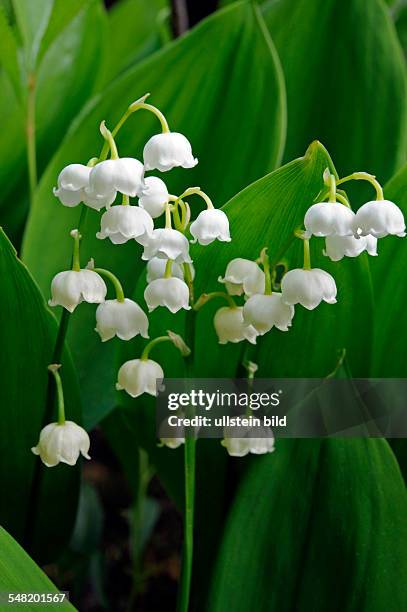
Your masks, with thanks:
M47 29L54 0L13 0L18 29L21 35L25 69L35 69L42 37Z

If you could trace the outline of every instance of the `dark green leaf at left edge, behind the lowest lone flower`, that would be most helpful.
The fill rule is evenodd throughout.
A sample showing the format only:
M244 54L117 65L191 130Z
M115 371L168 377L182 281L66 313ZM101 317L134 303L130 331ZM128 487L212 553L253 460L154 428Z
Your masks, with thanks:
M46 424L47 366L57 326L3 232L0 279L0 522L36 559L49 561L69 538L79 477L78 467L45 468L31 452ZM68 355L62 363L67 418L78 422L78 387ZM50 420L55 416L51 410Z

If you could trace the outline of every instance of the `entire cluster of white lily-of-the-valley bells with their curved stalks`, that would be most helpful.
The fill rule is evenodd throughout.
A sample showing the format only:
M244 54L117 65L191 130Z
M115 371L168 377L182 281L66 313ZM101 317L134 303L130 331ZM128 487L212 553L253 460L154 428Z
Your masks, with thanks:
M159 307L167 308L171 313L197 311L209 300L222 298L226 305L218 309L214 317L219 343L247 340L255 344L259 336L273 327L287 332L297 304L313 310L322 301L328 304L336 302L334 278L325 270L311 267L309 242L312 236L324 238L323 253L332 261L339 261L345 256L356 257L364 251L376 255L378 239L387 235L405 235L400 209L384 199L375 177L359 172L337 179L326 170L319 201L308 209L304 218L305 229L295 232L304 245L302 268L286 270L277 286L275 266L271 265L265 247L256 261L235 258L229 262L224 276L218 279L225 291L204 293L194 301L195 270L190 243L198 242L205 246L215 240L229 242L229 221L224 211L215 208L199 187L188 187L180 195L172 195L161 177L145 175L149 171L165 173L176 167L193 168L198 163L187 138L171 132L164 115L155 106L147 104L146 98L144 96L131 104L112 131L105 122L101 123L104 144L99 156L86 165L73 163L63 168L54 194L64 206L83 203L85 209L102 211L100 231L96 234L98 239L108 239L115 245L135 241L142 247L141 259L146 262L147 271L144 300L149 312ZM144 146L143 161L120 157L115 142L121 126L139 110L153 113L161 125L161 133L152 136ZM369 181L377 193L376 200L367 202L356 213L352 211L345 192L337 189L353 179ZM205 206L194 220L186 201L193 196L200 197ZM133 198L136 199L134 202L131 201ZM110 270L95 267L93 260L85 268L81 267L80 229L71 231L74 241L72 266L52 280L49 304L62 306L69 313L74 312L81 302L97 304L95 329L102 342L115 336L125 341L137 335L148 339L148 316L139 304L125 297L119 279ZM106 299L106 280L114 287L115 299ZM241 304L236 301L241 299L240 296L244 297ZM167 341L183 356L188 356L189 349L183 339L169 331L149 341L138 358L121 365L116 388L125 390L134 398L143 393L155 396L157 381L164 377L164 371L149 355L157 344ZM60 384L56 370L53 373ZM182 442L182 438L163 440L171 448ZM263 440L257 439L253 432L243 432L241 436L236 432L225 432L223 445L230 454L238 456L274 450L272 434ZM86 432L65 421L64 412L60 410L58 423L45 427L33 452L51 466L59 461L75 463L80 452L88 456L88 449Z

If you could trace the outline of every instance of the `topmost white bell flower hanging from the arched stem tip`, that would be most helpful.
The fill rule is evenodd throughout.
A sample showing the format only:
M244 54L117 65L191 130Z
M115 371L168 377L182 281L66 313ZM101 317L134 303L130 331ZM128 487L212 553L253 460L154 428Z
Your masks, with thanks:
M167 172L172 168L193 168L198 160L192 155L190 142L183 134L164 132L152 136L144 147L146 170Z

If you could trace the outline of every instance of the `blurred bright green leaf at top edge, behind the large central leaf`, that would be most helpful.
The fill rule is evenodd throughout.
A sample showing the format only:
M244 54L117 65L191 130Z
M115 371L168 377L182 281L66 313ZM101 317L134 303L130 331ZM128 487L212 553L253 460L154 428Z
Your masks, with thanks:
M164 0L121 0L112 6L108 13L109 53L103 74L106 84L162 46L166 12Z

